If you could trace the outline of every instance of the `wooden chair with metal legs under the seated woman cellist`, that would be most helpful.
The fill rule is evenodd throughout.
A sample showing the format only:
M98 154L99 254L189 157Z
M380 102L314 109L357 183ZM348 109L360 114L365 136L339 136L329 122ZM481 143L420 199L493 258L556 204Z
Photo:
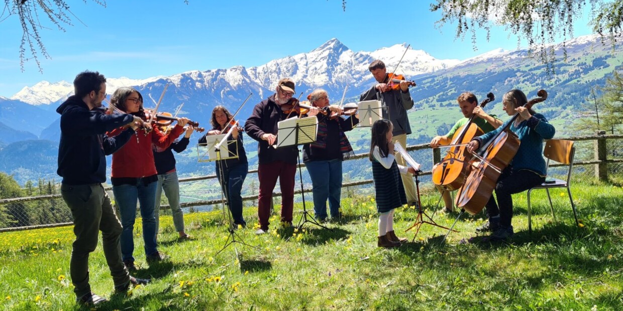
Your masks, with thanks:
M575 155L576 148L573 146L573 141L565 141L563 139L549 139L545 144L545 150L543 150L543 156L547 158L546 172L549 168L549 160L554 160L561 164L569 165L569 172L567 174L567 180L548 178L544 183L528 190L528 232L532 233L532 219L531 219L531 205L530 205L530 192L536 189L545 189L547 197L549 199L549 207L551 208L551 216L556 221L554 215L554 205L551 203L551 197L549 196L549 188L567 188L569 193L569 202L571 202L571 208L573 209L573 216L576 218L576 225L579 226L578 213L576 213L576 205L573 203L573 197L571 197L571 170L573 170L573 156Z

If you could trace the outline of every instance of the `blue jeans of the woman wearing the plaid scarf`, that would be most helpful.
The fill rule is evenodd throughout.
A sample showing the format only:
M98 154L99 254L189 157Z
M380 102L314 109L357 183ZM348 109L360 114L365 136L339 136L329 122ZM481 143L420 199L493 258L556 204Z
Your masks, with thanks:
M312 178L313 210L316 218L326 218L326 199L329 199L331 218L340 216L340 197L342 193L342 160L305 162L307 172Z

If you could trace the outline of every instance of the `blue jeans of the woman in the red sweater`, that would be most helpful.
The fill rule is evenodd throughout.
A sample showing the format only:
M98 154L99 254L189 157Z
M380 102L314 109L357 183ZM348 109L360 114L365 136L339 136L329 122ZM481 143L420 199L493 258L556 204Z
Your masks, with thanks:
M113 186L115 202L121 215L121 258L123 261L134 261L134 221L136 220L136 199L140 202L141 218L143 222L143 241L145 241L145 254L147 256L158 251L156 249L156 218L154 207L156 205L156 187L158 182L143 185L143 180L138 178L136 185Z

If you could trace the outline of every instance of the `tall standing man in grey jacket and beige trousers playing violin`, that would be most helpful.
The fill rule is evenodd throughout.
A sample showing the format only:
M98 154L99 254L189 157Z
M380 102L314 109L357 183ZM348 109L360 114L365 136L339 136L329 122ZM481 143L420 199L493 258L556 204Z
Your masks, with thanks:
M409 83L405 80L400 82L400 90L392 90L389 85L389 75L385 68L385 63L381 60L374 60L368 66L368 70L378 82L368 91L359 96L359 101L380 100L383 107L383 119L388 119L394 125L392 131L392 142L400 142L402 146L407 146L407 135L411 134L411 126L409 126L409 117L407 110L413 108L413 100L409 93ZM399 165L407 166L405 160L400 154L396 154L396 162ZM412 174L401 174L404 191L407 195L409 205L417 204L416 184L413 182Z

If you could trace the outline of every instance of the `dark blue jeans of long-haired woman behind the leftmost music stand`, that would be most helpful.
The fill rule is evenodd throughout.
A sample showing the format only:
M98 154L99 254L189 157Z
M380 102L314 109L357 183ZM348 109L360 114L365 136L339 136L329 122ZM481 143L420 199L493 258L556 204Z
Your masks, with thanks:
M232 218L234 218L235 225L247 225L242 218L242 183L247 177L247 171L249 170L248 163L239 163L231 167L223 167L223 178L221 187L226 194L227 205L232 212ZM221 182L221 172L216 169L216 178Z

